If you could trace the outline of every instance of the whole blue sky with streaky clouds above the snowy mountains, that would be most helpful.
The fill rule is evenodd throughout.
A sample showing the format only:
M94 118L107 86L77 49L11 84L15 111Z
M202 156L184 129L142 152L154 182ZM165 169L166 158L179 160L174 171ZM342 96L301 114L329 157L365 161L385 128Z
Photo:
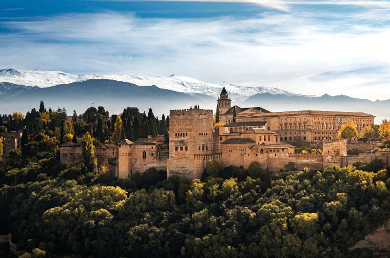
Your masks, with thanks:
M390 98L390 1L0 0L0 69Z

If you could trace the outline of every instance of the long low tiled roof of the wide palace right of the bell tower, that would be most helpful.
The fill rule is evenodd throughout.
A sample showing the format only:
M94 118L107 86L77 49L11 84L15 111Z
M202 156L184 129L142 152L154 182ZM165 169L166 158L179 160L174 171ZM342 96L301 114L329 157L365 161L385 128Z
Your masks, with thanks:
M363 113L363 112L316 111L316 110L257 113L257 114L252 114L250 116L254 117L254 116L284 116L284 115L339 115L339 116L375 117L374 115Z

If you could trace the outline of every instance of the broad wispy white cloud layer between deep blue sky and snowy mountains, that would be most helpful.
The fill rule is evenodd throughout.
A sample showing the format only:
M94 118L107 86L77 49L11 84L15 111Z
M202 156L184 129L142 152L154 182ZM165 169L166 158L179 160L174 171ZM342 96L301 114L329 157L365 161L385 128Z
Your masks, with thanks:
M389 11L324 16L326 22L293 10L246 19L101 13L3 22L18 34L0 36L0 67L182 74L301 94L390 98ZM342 72L378 65L377 71ZM320 76L333 71L342 75Z

